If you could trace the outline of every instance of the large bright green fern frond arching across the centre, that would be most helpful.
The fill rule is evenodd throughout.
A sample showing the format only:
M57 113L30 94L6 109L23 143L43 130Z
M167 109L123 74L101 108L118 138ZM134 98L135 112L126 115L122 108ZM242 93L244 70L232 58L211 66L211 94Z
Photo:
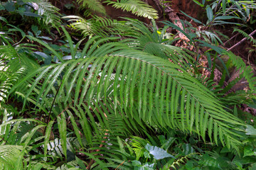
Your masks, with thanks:
M121 115L125 120L133 120L134 124L125 123L135 130L142 124L178 128L196 132L203 140L208 135L217 145L221 142L228 148L238 149L240 135L234 127L243 124L227 113L201 82L180 70L177 64L148 53L120 50L110 56L42 67L16 87L22 86L20 91L25 91L24 102L33 95L38 105L47 110L53 105L50 96L55 96L53 118L67 113L77 126L72 116L75 112L85 123L82 130L87 135L94 130L99 134L97 122L102 128L110 129L107 119ZM88 125L93 128L90 133L86 131ZM82 145L80 130L78 127L74 130ZM87 140L90 138L87 136Z

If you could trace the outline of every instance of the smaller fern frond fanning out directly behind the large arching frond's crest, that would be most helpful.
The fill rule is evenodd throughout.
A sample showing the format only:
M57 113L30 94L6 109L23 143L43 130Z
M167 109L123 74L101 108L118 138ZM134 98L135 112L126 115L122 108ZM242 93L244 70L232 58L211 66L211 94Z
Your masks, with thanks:
M164 36L157 33L156 27L149 28L142 21L124 18L127 22L124 24L124 33L128 36L122 40L128 47L141 50L164 59L171 60L183 69L187 70L195 63L191 52L174 45L169 45L169 40L164 40Z

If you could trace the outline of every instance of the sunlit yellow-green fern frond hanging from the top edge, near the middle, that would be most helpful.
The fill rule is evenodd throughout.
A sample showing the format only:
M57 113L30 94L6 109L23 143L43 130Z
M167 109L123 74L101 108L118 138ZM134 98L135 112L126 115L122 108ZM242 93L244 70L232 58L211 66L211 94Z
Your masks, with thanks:
M130 11L137 16L143 16L144 18L157 19L157 11L141 0L107 0L108 4L111 4L114 8L121 8L124 11Z

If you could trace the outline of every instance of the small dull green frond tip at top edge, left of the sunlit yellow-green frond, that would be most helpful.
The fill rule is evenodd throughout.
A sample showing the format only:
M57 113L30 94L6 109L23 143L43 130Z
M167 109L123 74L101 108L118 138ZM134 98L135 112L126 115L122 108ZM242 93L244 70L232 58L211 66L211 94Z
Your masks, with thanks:
M77 0L85 8L90 8L92 11L103 13L106 15L104 6L100 3L100 0Z

